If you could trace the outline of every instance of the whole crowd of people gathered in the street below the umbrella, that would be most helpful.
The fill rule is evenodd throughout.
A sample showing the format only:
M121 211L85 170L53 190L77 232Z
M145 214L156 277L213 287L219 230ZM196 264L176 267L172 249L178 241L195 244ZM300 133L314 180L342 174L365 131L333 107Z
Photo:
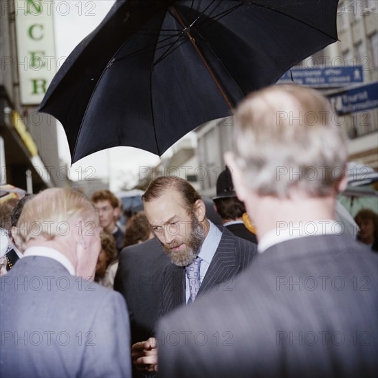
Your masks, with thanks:
M308 88L247 96L216 218L179 177L126 230L109 190L1 203L0 377L377 376L378 216L336 219L331 115Z

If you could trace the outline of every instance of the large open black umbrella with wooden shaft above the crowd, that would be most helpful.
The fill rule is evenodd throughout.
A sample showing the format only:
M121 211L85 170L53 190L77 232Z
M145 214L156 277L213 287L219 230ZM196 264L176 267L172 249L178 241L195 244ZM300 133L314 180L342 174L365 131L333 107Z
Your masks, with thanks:
M118 0L69 55L39 110L72 162L113 146L162 155L337 41L338 0Z

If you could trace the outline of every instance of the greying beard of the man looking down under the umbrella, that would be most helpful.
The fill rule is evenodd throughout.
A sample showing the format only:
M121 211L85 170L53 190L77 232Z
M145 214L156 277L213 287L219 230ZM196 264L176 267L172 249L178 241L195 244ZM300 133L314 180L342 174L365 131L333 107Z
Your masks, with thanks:
M192 227L190 228L190 235L184 239L186 244L185 249L181 251L173 251L173 247L178 247L181 243L162 244L162 247L170 261L178 267L187 267L190 265L199 254L201 245L205 240L205 232L203 231L203 225L199 223L196 216L192 214Z

